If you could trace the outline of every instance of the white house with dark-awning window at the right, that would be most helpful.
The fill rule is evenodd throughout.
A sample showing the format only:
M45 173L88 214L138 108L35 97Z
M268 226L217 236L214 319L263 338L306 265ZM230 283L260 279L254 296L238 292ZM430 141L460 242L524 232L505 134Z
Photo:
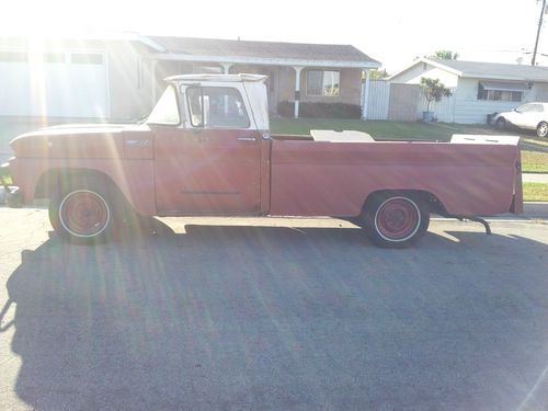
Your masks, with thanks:
M548 67L419 58L388 80L420 84L421 77L439 79L452 89L449 99L432 106L445 123L486 123L488 114L532 101L548 102ZM416 118L424 110L425 102L419 104Z

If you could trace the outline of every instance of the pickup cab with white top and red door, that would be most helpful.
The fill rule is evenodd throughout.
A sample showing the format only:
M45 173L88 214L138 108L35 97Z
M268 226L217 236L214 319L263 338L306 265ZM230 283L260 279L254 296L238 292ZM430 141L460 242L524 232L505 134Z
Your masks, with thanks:
M261 213L265 77L180 76L147 119L160 215ZM184 176L184 178L182 178Z

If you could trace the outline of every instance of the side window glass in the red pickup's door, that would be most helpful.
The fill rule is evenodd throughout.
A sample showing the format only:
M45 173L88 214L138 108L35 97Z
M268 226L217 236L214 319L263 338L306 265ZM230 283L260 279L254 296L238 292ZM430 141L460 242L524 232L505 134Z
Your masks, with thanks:
M249 116L237 89L228 87L190 87L186 89L193 127L248 128Z

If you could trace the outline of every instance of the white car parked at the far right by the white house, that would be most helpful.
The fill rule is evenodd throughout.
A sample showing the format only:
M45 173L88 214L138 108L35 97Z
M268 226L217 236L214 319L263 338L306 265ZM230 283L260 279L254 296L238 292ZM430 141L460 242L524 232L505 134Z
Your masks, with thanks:
M548 103L527 103L511 112L499 113L493 123L503 129L512 125L520 128L534 129L538 137L548 136Z

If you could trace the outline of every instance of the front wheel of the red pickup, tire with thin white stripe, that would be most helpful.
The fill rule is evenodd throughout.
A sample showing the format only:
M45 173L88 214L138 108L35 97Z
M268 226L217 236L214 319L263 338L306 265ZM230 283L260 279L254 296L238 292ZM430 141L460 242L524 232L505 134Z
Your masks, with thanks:
M49 202L49 221L68 242L96 244L113 235L118 215L115 190L98 178L81 178L59 187Z

